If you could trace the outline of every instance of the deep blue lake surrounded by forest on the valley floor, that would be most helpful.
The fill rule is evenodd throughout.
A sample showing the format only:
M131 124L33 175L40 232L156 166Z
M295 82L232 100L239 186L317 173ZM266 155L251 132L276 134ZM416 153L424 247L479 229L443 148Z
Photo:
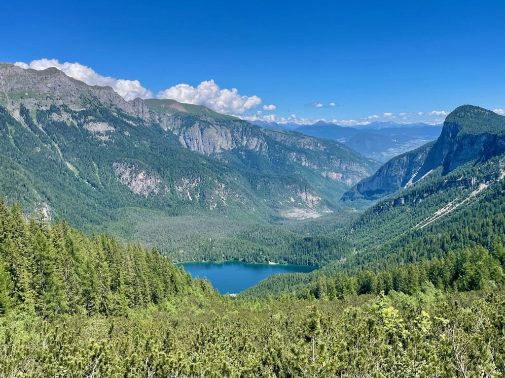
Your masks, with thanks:
M239 293L256 285L268 276L277 273L307 273L317 269L305 265L284 264L247 264L241 261L225 261L222 263L181 263L191 277L207 279L221 294Z

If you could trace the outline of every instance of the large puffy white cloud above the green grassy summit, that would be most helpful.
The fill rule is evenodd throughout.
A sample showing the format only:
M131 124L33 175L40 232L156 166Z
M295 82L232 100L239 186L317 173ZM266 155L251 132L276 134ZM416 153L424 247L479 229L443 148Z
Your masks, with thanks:
M160 91L158 98L170 98L179 102L205 105L225 114L243 114L261 104L258 96L240 96L236 88L221 89L214 80L203 81L198 86L177 84Z

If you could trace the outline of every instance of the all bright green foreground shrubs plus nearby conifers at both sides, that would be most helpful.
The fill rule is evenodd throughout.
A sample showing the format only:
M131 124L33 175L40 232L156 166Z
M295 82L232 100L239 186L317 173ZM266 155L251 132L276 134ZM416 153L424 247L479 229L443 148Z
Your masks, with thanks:
M0 377L504 376L504 250L232 299L0 201Z

